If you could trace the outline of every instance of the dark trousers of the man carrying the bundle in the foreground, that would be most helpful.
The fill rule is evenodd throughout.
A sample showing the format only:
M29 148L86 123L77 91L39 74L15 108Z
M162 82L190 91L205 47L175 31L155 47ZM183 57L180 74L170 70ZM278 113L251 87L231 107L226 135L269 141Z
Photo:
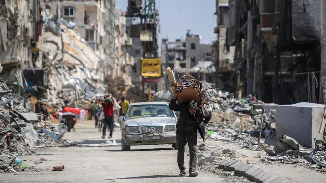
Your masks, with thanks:
M177 131L177 146L178 146L178 166L180 170L186 169L184 166L184 146L189 146L190 165L189 171L195 171L197 166L197 134L188 137L183 136Z

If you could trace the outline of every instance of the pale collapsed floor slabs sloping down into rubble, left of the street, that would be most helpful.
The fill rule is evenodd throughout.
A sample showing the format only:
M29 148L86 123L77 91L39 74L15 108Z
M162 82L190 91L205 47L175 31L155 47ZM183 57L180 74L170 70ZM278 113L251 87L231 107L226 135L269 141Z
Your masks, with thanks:
M44 51L48 60L43 68L48 73L48 102L79 102L104 93L103 73L98 72L99 58L75 31L61 24L60 34L46 32Z

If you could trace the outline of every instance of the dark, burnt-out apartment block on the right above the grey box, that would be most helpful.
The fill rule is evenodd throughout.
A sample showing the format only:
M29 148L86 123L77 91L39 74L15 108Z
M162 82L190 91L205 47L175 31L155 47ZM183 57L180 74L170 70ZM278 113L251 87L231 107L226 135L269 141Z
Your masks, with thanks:
M219 76L224 50L234 52L230 77L238 97L326 103L324 1L217 0L216 9L215 32L223 47L218 49Z

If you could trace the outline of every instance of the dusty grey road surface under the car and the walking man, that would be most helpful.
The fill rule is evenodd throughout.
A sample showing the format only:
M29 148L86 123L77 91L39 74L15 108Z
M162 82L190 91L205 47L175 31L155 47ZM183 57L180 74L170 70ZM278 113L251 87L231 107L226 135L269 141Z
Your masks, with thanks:
M102 140L101 134L89 122L77 124L77 132L66 133L64 138L90 141ZM119 128L113 139L120 140ZM119 140L118 140L119 139ZM105 139L106 141L107 139ZM103 141L105 143L105 141ZM198 171L199 176L179 177L176 150L171 145L136 146L123 152L119 143L116 147L47 147L37 149L38 154L22 156L39 171L0 174L1 182L225 182L211 172ZM40 159L46 161L40 163ZM189 162L189 156L185 157ZM36 164L38 162L40 164ZM186 163L187 165L188 163ZM52 171L52 167L64 165L64 171ZM241 178L239 178L240 181ZM242 179L241 179L242 181Z

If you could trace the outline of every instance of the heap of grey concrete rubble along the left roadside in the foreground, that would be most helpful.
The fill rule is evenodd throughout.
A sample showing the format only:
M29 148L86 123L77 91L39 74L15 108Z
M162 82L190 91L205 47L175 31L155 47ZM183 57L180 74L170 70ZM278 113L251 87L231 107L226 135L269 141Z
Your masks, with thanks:
M33 148L67 144L61 140L66 132L64 124L53 125L45 116L32 112L28 102L12 94L4 83L0 90L0 172L16 172L23 165L18 158L31 154Z

